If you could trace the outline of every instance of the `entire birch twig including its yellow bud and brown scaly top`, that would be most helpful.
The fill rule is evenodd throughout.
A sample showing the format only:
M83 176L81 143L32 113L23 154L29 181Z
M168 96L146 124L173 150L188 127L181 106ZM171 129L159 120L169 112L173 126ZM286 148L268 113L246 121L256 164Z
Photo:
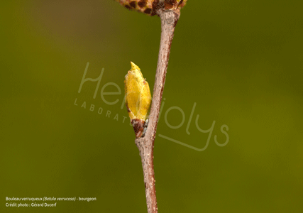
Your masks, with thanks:
M134 88L145 88L145 94L140 96L140 101L143 100L145 107L143 109L144 117L138 118L133 116L132 110L136 110L136 105L129 100L126 100L126 107L128 108L128 114L131 118L131 124L136 133L136 145L140 151L143 174L144 174L144 184L145 184L145 194L146 203L148 206L148 213L158 213L157 198L155 195L155 173L153 169L153 147L155 141L155 134L157 131L158 118L160 113L160 106L162 102L162 92L165 84L165 77L167 71L168 60L170 58L170 45L172 44L172 38L174 37L175 26L180 18L180 9L185 6L187 0L115 0L118 1L126 9L138 11L141 13L148 14L149 16L158 15L161 19L161 40L160 40L160 50L158 55L158 65L155 74L155 84L153 88L153 99L150 108L150 116L148 121L148 127L145 130L145 115L148 112L150 100L147 101L149 87L148 83L143 80L143 75L140 74L140 70L137 66L133 68L139 70L137 74L138 78L134 78L135 84L140 84L138 87L130 86L129 90L136 90ZM135 70L136 70L135 69ZM131 70L130 70L131 71ZM130 71L128 73L131 75ZM131 80L131 78L126 77L126 81ZM144 85L145 84L145 85ZM131 83L128 85L132 85ZM148 89L146 89L148 87ZM127 89L127 87L126 87ZM128 92L127 92L128 93ZM141 94L141 93L140 93ZM150 96L150 94L149 94ZM126 97L127 98L127 97ZM130 99L133 99L133 97ZM129 104L129 105L128 105ZM132 105L132 106L130 106ZM145 110L146 109L146 110ZM140 111L140 110L139 110ZM142 115L142 114L140 114Z

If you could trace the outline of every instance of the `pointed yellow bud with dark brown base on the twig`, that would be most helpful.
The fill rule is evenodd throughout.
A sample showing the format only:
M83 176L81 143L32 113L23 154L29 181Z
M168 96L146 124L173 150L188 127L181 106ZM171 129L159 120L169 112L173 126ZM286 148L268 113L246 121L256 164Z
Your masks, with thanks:
M148 82L140 68L131 62L131 70L125 77L126 107L137 138L142 136L145 120L148 118L151 95Z

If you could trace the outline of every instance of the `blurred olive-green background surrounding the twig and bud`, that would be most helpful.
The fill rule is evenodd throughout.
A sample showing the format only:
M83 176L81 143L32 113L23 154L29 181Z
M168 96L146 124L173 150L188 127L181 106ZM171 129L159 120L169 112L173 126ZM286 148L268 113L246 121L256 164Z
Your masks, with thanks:
M130 61L153 88L160 19L111 0L4 1L0 12L0 212L147 212L123 94L106 96L119 99L109 105L100 91L114 82L123 93ZM160 212L303 212L302 38L301 1L188 1L155 139ZM95 99L97 82L78 93L87 62L87 77L104 68ZM169 125L180 111L165 121L170 107L184 111L179 129ZM198 114L202 129L216 121L205 151L159 136L203 148ZM5 206L5 197L44 196L97 201Z

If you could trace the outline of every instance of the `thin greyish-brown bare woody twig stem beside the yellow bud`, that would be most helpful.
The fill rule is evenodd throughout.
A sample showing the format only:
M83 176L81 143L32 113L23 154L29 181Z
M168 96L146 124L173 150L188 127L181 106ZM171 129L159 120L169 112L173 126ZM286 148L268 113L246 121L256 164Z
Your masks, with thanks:
M161 40L158 66L155 75L155 85L153 88L153 102L150 108L148 129L145 136L143 138L137 138L135 141L141 155L148 213L158 213L157 198L155 195L155 173L153 169L153 147L155 133L157 131L167 65L170 58L170 45L172 44L175 26L180 17L180 9L159 9L157 13L161 18Z

